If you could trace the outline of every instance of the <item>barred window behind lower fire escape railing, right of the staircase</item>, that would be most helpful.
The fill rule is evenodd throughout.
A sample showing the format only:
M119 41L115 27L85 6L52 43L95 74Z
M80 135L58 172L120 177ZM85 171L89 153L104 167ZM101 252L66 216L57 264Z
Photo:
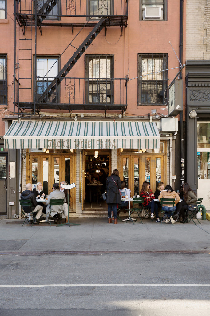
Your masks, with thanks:
M87 104L113 103L113 55L85 56Z

